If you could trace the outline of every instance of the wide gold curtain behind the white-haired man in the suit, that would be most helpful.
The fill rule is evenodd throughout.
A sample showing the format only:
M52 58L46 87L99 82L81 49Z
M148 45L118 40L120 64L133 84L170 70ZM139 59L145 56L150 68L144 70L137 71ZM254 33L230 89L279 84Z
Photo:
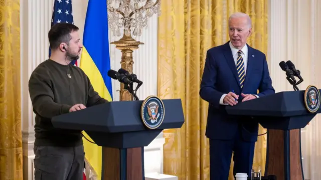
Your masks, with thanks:
M228 17L250 15L248 44L267 53L268 0L162 0L158 19L158 81L161 98L181 98L185 123L164 130L164 173L179 179L209 179L209 142L205 136L208 103L200 98L206 51L229 40ZM265 132L260 126L259 133ZM264 173L266 135L255 144L253 168ZM232 161L232 160L231 160ZM233 179L233 161L230 177Z

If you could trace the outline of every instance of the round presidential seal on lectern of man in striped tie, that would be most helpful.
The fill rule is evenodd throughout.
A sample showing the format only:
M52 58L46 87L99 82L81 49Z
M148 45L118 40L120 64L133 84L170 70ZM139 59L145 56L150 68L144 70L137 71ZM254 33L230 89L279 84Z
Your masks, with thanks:
M309 112L316 112L320 106L320 91L309 85L304 91L304 104Z

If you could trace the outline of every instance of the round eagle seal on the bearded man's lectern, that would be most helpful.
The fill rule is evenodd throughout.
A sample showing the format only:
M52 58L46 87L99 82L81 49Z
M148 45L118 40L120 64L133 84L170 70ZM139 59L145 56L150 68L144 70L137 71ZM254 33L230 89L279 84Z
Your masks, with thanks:
M156 96L148 96L141 104L140 116L147 128L154 129L163 123L165 108L163 101Z

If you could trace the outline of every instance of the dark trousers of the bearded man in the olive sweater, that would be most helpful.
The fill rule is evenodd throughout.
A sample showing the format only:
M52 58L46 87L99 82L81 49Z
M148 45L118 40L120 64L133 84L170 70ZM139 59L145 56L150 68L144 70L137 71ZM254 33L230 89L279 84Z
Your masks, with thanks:
M84 146L35 146L35 180L82 180Z

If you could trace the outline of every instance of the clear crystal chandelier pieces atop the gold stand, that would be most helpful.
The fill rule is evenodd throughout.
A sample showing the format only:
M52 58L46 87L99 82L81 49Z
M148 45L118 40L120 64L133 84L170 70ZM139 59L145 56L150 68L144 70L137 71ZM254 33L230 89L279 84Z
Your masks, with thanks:
M108 26L113 34L140 36L143 27L147 28L147 19L153 14L160 15L160 0L107 0Z

